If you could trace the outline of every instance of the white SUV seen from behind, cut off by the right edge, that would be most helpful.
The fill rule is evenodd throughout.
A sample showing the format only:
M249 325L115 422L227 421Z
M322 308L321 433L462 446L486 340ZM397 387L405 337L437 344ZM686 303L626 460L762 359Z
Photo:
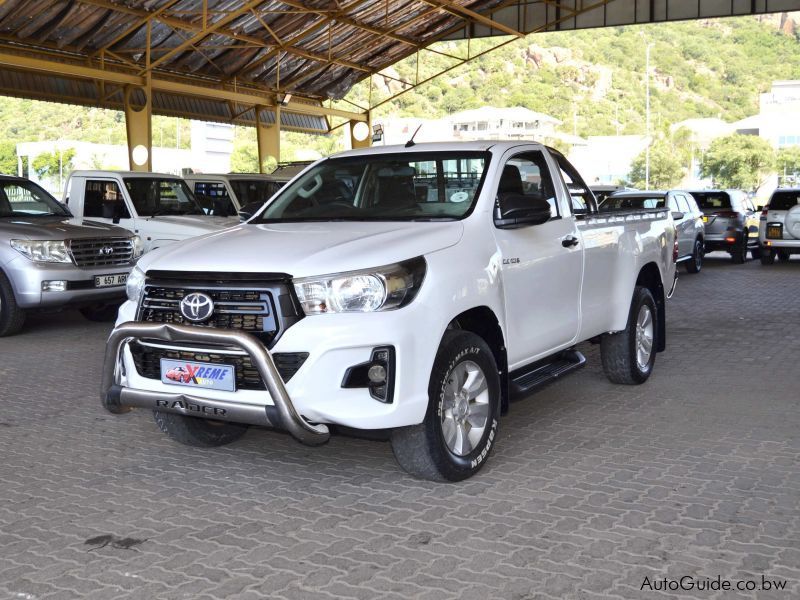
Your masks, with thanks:
M758 228L761 264L800 254L800 188L777 189L761 212Z

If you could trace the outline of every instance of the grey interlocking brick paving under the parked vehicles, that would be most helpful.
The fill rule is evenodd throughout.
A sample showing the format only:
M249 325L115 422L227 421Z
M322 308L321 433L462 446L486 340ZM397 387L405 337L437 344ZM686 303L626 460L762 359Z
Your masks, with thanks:
M172 443L101 410L107 326L38 317L0 340L0 598L800 597L799 297L800 261L710 259L648 384L586 346L455 485L382 442ZM654 591L762 575L787 589Z

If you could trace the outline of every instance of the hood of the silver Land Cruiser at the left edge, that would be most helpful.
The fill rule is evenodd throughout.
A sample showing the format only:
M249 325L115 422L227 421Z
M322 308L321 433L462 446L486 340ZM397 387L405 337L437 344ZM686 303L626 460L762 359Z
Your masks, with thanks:
M9 239L78 240L86 238L131 237L116 225L75 217L9 217L0 219L0 236Z

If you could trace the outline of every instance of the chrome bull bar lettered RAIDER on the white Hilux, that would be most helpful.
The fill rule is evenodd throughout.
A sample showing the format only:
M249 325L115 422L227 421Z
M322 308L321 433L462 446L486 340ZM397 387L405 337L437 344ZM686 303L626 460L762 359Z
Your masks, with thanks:
M272 406L267 404L257 406L211 400L191 393L153 392L121 386L119 376L122 349L128 342L137 338L241 348L247 352L253 366L258 370L274 402L275 410L270 413L268 409ZM114 414L127 412L131 408L152 408L221 421L267 425L285 429L295 439L309 446L324 444L330 438L330 431L326 425L309 423L300 416L286 391L272 355L258 338L244 331L170 323L123 323L116 327L108 338L100 397L106 410Z

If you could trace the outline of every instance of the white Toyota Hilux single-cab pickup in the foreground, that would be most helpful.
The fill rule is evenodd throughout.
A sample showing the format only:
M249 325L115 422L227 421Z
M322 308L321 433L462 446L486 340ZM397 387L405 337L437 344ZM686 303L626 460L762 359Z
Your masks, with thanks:
M538 144L345 152L247 223L139 261L102 401L198 446L383 430L406 471L464 479L510 399L585 362L579 342L611 381L647 380L676 253L667 209L599 213Z

